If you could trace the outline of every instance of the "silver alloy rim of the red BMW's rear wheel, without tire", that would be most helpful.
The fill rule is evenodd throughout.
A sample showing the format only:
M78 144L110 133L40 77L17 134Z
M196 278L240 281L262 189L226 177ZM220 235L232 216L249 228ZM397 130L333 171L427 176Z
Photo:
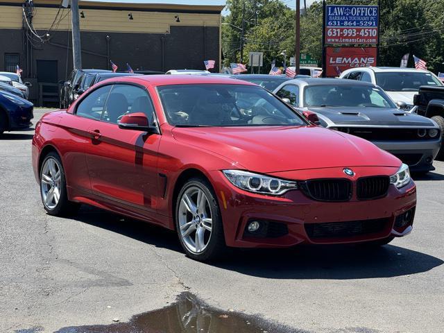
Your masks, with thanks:
M40 173L40 189L44 205L53 210L60 200L60 191L62 187L62 177L58 161L49 157L43 164Z

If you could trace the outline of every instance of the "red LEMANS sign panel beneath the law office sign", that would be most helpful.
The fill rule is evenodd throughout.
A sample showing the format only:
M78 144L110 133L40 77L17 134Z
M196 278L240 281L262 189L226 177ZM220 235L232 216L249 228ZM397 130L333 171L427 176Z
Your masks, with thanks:
M376 47L325 48L326 76L339 76L345 69L376 65Z

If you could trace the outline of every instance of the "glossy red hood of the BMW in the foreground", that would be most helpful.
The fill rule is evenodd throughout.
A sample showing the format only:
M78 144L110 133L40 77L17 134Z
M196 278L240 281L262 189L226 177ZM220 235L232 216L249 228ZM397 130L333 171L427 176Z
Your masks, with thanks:
M173 137L259 173L401 164L364 139L317 126L174 128Z

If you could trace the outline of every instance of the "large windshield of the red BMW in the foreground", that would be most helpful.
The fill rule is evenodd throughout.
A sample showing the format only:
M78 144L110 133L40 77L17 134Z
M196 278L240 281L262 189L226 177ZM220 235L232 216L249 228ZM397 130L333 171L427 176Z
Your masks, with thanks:
M199 126L302 126L301 117L262 87L194 84L157 87L169 123Z

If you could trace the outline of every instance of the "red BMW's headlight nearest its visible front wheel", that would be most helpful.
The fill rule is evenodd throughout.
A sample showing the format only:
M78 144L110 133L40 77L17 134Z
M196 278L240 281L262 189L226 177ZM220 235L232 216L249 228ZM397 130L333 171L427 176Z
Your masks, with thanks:
M223 174L232 185L246 191L279 196L291 189L298 189L298 183L280 178L273 178L242 170L223 170Z

